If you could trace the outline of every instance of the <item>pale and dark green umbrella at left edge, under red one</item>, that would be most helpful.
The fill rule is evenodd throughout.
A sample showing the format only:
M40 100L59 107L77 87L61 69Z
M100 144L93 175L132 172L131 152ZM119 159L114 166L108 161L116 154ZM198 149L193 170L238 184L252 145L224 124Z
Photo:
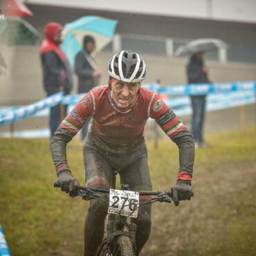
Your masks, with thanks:
M39 32L26 21L19 17L0 19L1 42L9 45L35 44Z

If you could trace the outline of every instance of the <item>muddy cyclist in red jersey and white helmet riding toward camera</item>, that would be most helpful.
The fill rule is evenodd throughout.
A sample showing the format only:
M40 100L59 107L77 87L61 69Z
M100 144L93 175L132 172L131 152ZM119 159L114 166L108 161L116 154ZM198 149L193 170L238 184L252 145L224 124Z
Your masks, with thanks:
M79 181L71 174L66 160L66 143L82 128L89 116L92 125L84 141L86 185L109 188L113 172L131 190L152 190L143 130L147 119L154 118L179 147L179 174L172 188L174 203L190 199L194 164L194 140L188 129L167 104L140 87L146 66L142 57L131 51L116 53L109 60L108 84L84 95L62 121L51 139L51 152L62 191L73 196ZM146 198L140 198L145 200ZM91 200L84 223L84 255L95 255L104 232L108 205ZM137 255L149 238L151 205L142 205L136 219Z

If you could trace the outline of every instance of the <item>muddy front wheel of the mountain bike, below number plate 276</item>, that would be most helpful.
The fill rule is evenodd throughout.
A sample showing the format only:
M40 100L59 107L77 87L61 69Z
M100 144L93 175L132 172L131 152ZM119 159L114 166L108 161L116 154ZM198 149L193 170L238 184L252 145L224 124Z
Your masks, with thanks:
M120 235L113 248L113 256L134 256L134 246L127 235Z

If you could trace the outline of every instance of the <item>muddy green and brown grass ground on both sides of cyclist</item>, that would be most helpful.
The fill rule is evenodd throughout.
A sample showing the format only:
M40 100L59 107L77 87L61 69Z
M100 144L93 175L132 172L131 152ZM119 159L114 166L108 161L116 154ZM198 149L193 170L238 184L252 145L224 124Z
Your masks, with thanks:
M142 255L254 255L255 130L213 134L208 141L212 147L196 150L194 199L179 208L154 205ZM148 147L154 188L170 188L176 146ZM83 181L80 142L68 145L68 161ZM12 255L82 255L88 203L54 189L54 180L48 140L0 138L0 223Z

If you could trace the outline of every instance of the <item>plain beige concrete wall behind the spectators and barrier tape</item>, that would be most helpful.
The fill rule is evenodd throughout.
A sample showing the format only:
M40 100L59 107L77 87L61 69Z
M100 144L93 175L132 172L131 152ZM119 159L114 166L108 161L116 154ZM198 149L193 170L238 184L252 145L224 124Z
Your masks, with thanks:
M39 46L1 46L1 53L6 59L10 75L0 76L0 104L28 104L45 97L42 88L42 68L39 59ZM107 82L107 62L112 53L99 53L95 60L102 71L101 83ZM143 55L147 64L145 82L161 80L161 84L184 84L185 58L153 57ZM231 82L256 80L256 65L242 63L207 62L210 79L213 82ZM75 80L76 91L76 77Z

